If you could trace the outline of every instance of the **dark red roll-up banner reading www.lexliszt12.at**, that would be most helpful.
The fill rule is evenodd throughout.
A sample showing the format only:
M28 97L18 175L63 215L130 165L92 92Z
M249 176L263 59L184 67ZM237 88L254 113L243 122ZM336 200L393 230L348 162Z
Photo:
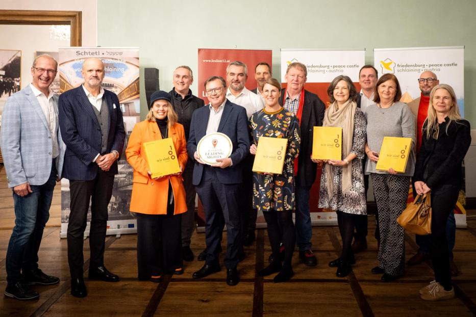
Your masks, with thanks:
M205 93L205 81L210 76L221 76L227 80L227 66L231 62L240 61L246 64L248 69L248 78L245 87L248 90L255 89L257 84L255 80L255 66L258 63L266 62L272 67L271 49L224 49L224 48L198 48L198 97L208 103ZM272 71L272 69L271 69ZM201 203L197 208L198 231L205 229L205 213ZM257 227L263 228L266 222L263 213L258 213Z

